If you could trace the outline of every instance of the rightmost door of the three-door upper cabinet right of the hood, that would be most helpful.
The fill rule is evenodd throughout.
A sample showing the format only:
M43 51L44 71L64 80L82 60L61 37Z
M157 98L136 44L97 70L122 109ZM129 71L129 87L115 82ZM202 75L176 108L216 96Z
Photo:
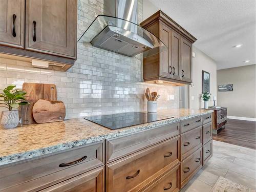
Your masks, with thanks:
M192 44L181 38L181 78L192 82Z

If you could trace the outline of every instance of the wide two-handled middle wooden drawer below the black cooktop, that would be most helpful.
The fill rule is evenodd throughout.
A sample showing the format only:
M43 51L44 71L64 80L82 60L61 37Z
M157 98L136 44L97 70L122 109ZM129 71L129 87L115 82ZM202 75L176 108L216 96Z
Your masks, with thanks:
M145 180L148 184L159 170L179 163L179 145L175 137L106 165L106 191L134 191Z

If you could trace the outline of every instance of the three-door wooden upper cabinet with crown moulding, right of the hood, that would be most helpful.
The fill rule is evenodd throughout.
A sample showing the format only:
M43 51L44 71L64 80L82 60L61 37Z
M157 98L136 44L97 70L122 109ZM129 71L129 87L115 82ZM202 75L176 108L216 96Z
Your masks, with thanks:
M162 11L140 24L152 32L168 50L143 58L144 81L192 82L192 44L197 40Z

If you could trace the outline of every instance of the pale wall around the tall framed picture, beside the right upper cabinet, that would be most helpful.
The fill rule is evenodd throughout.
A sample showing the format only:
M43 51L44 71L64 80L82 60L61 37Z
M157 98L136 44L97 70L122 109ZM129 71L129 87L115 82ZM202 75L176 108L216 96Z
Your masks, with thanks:
M189 86L189 108L203 108L202 94L202 70L210 73L210 93L211 99L209 106L213 105L212 96L217 95L216 71L217 64L209 56L193 46L196 57L193 58L193 83L194 87Z

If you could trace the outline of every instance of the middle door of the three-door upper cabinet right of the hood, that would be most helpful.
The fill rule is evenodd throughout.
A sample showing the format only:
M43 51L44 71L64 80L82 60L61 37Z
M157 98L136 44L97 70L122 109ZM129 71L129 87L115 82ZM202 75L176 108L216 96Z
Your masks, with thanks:
M172 31L172 78L180 80L181 69L181 36Z

